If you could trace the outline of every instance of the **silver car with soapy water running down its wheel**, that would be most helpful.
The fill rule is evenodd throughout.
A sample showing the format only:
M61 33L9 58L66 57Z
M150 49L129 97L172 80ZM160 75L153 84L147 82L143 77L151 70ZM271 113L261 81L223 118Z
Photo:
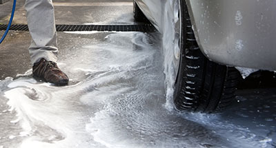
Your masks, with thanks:
M276 70L275 1L134 0L133 12L163 35L166 95L179 111L224 109L239 72Z

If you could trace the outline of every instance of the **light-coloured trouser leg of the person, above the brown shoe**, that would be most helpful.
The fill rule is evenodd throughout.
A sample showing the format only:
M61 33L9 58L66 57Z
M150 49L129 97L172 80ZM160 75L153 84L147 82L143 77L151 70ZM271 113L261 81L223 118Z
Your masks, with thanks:
M29 47L32 65L41 58L57 61L57 32L52 0L26 0L25 9L32 36Z

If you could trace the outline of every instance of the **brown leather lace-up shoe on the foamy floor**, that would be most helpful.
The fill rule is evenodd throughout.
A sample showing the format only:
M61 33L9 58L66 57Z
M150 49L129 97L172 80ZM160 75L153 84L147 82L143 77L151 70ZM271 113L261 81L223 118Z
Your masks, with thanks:
M57 63L46 61L46 59L34 63L32 75L55 85L67 85L69 81L68 76L57 67Z

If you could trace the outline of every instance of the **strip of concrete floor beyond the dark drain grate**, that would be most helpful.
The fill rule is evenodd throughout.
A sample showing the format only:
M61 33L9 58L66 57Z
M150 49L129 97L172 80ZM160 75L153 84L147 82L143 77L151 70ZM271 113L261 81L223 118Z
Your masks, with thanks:
M17 1L17 11L14 15L14 24L26 24L25 0ZM53 1L57 24L132 24L132 1L115 0L81 0L81 1ZM59 5L56 6L56 3ZM83 6L72 6L74 3L84 3ZM63 5L61 5L63 4ZM66 4L68 6L66 6ZM71 4L71 5L70 5ZM0 24L8 23L12 1L0 6Z

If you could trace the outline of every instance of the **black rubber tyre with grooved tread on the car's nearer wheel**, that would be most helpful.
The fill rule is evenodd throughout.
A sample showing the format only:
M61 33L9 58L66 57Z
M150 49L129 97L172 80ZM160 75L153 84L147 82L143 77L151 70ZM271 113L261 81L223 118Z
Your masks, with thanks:
M186 2L179 0L179 67L174 103L179 110L215 112L235 98L237 70L209 61L201 53L190 23Z

